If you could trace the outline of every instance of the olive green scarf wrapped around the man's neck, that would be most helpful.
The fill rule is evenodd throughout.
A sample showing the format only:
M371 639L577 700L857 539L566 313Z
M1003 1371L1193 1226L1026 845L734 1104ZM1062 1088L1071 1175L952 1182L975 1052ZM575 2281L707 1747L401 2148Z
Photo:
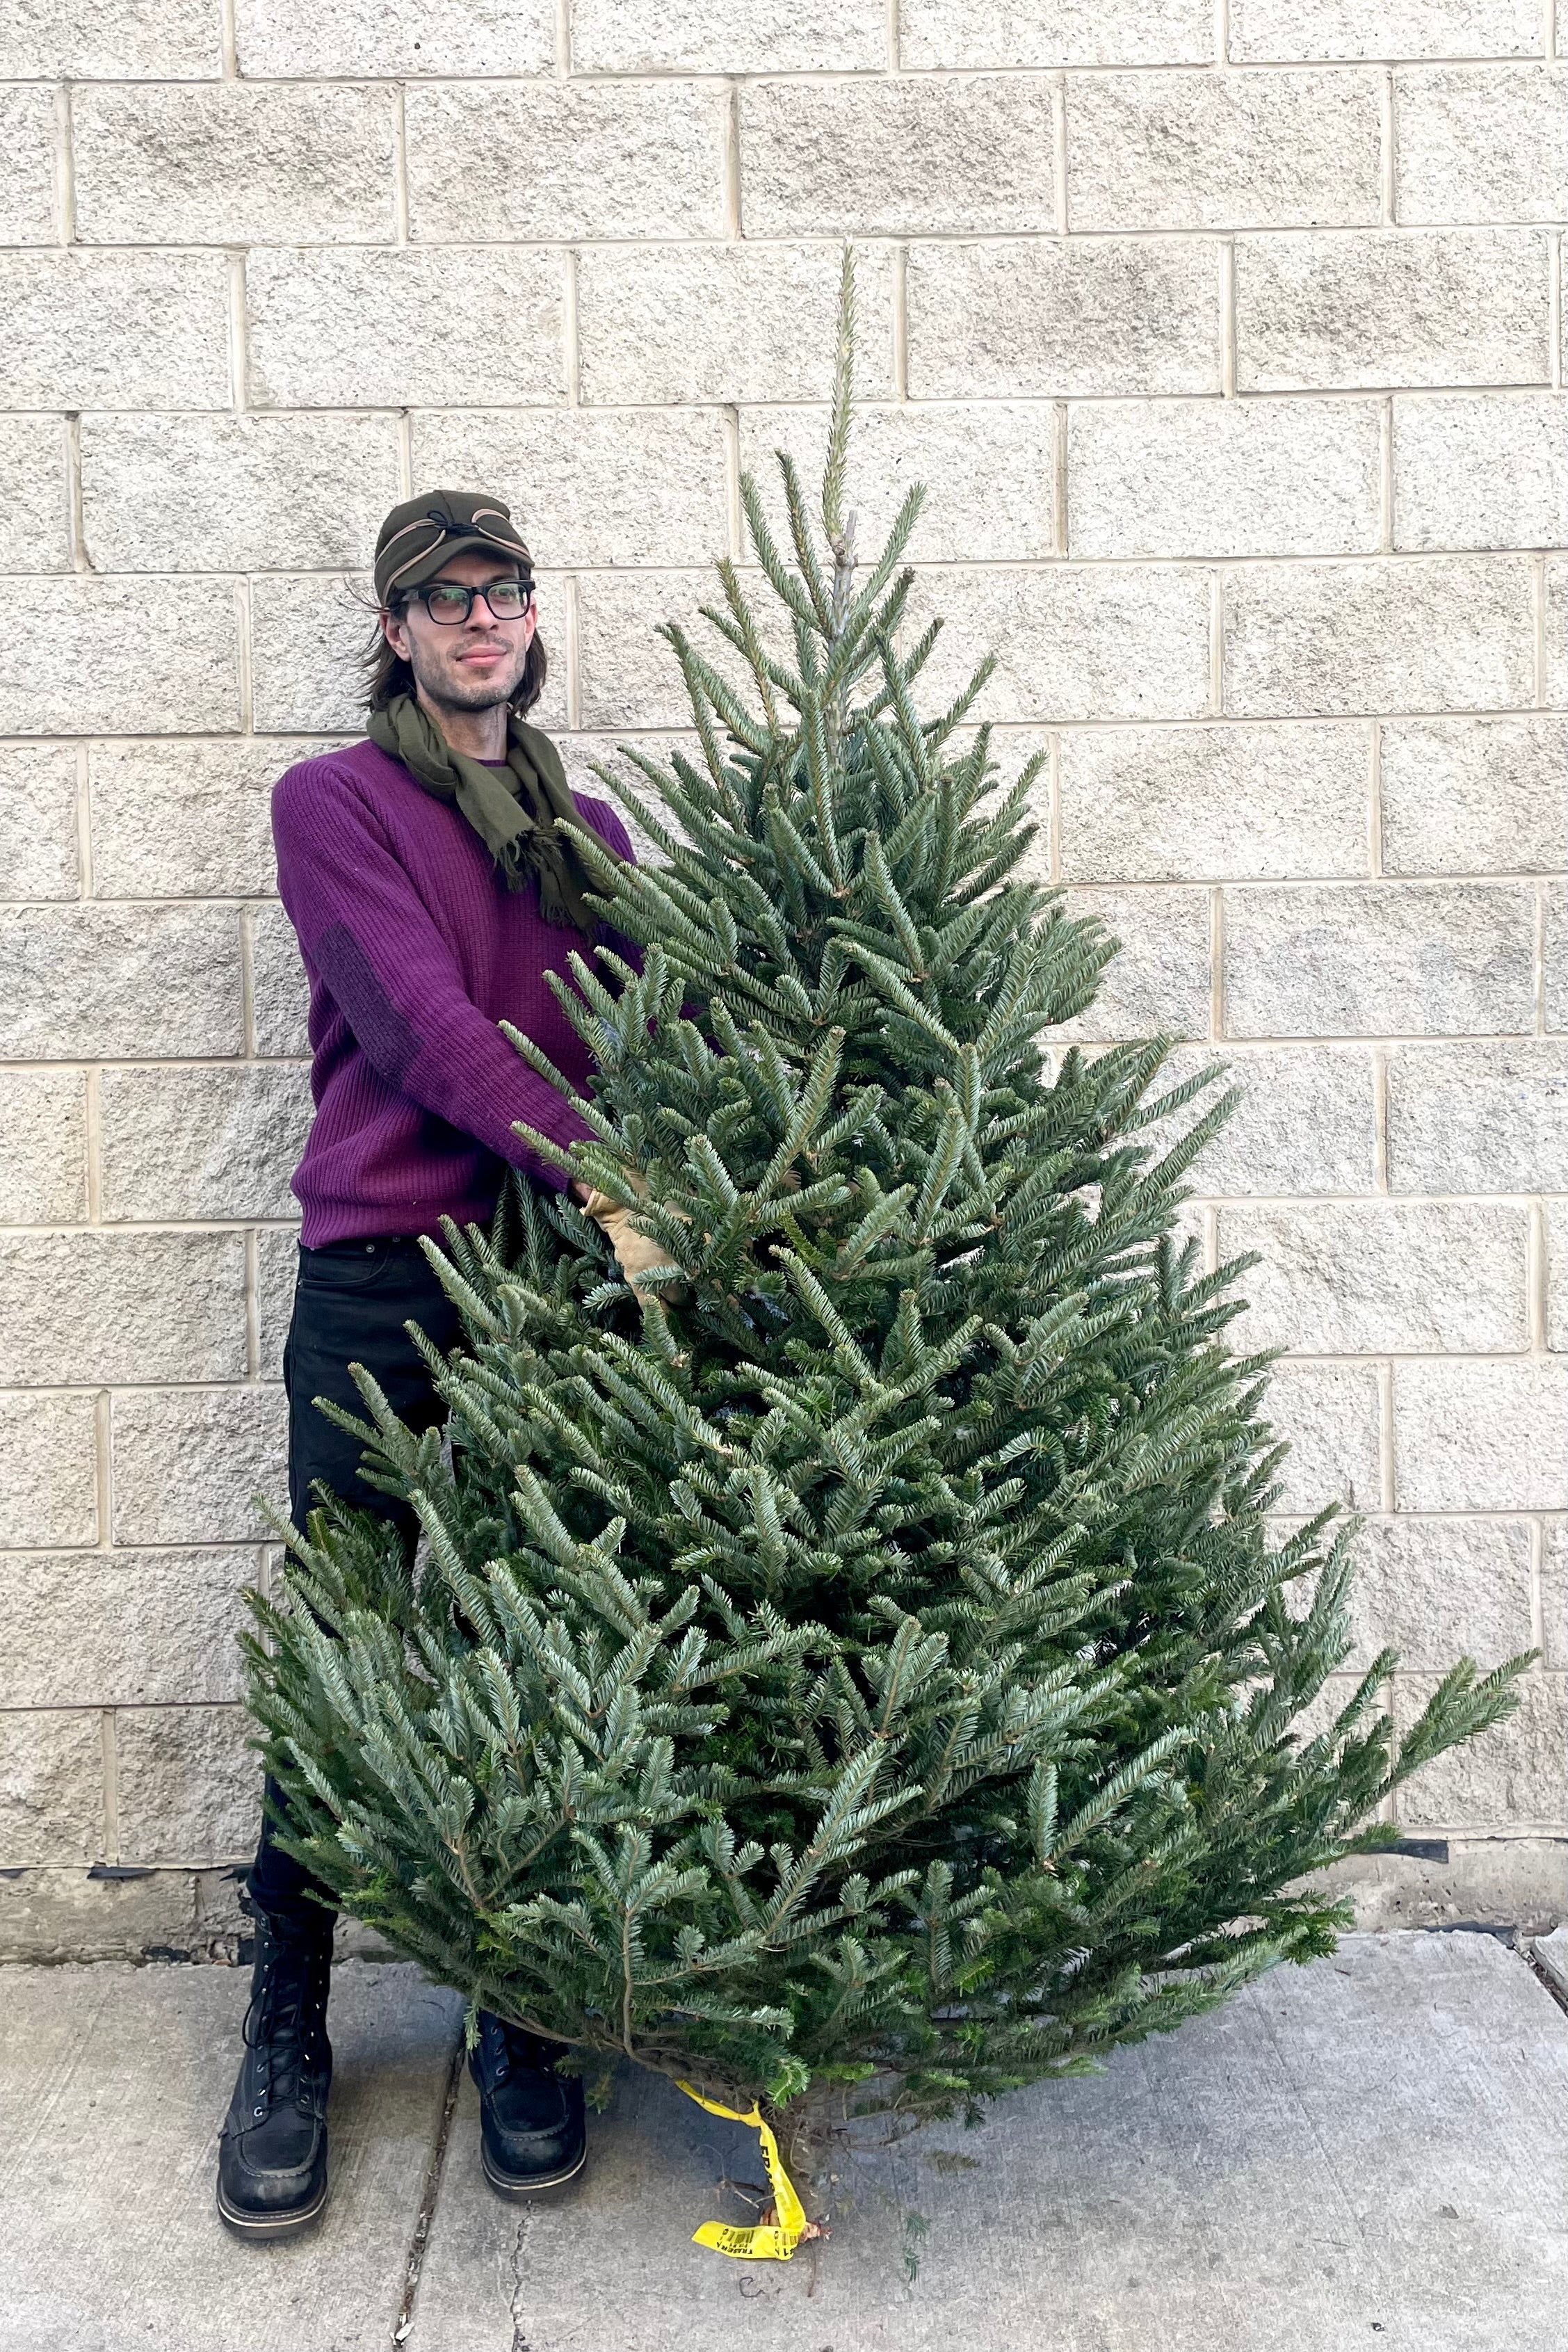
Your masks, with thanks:
M583 818L548 734L508 713L505 767L487 767L484 760L454 750L411 694L395 694L386 710L371 710L367 731L378 750L402 760L425 793L456 800L508 889L527 889L536 880L545 922L576 924L585 938L595 936L599 917L585 896L597 887L595 877L576 842L557 826L557 816L574 826Z

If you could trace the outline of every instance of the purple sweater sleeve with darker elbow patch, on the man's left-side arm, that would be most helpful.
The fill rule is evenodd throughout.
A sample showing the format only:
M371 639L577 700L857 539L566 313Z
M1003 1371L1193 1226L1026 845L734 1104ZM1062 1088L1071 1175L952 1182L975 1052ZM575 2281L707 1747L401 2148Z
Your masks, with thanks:
M381 1077L564 1190L562 1169L536 1157L512 1134L512 1120L562 1145L585 1138L588 1124L465 993L447 941L360 793L327 762L313 764L308 783L294 769L273 793L273 842L277 894L299 943Z

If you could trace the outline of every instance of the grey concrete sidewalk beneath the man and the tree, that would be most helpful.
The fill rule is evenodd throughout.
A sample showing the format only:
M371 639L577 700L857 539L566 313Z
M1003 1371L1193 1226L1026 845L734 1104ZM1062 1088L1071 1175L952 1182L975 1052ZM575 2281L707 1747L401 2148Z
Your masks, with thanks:
M790 2265L691 2246L755 2136L625 2072L503 2206L458 2002L341 1964L334 2197L212 2206L247 1976L0 1971L2 2352L1563 2352L1568 2018L1490 1936L1352 1936L1103 2077L846 2166ZM440 2173L442 2119L449 2117ZM414 2286L411 2286L414 2272Z

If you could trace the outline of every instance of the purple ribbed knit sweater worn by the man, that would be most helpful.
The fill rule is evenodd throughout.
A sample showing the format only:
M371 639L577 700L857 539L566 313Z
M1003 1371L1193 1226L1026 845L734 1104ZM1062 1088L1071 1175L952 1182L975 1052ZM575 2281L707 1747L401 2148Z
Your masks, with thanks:
M632 856L607 802L583 795L578 809ZM581 931L543 920L536 884L508 891L456 804L435 800L374 743L280 776L273 842L310 978L315 1124L294 1171L306 1249L357 1235L440 1235L442 1216L482 1223L503 1160L559 1188L559 1169L510 1122L527 1120L555 1143L588 1127L496 1023L534 1037L571 1084L588 1080L588 1047L545 981L585 948Z

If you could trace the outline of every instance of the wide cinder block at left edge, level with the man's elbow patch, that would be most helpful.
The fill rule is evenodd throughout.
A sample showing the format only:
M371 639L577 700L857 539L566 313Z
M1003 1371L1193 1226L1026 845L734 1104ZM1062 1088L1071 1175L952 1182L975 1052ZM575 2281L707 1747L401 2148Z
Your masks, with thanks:
M240 920L221 906L0 915L0 1054L160 1061L240 1054Z

